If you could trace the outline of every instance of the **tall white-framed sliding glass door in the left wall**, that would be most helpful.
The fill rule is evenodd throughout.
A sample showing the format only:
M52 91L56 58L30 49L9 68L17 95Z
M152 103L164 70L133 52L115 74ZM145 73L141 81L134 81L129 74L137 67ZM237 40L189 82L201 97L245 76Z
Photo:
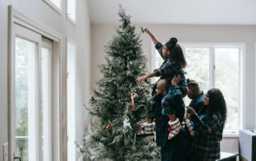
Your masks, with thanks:
M15 26L14 153L52 160L52 41Z

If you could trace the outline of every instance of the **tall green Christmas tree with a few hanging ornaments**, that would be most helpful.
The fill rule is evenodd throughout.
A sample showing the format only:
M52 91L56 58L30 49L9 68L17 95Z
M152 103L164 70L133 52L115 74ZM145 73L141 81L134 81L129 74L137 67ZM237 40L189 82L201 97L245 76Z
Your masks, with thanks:
M150 96L149 85L136 82L146 73L146 57L135 26L121 6L118 15L122 24L106 45L106 64L100 65L103 77L86 107L92 124L78 150L81 160L158 160L154 137L137 135Z

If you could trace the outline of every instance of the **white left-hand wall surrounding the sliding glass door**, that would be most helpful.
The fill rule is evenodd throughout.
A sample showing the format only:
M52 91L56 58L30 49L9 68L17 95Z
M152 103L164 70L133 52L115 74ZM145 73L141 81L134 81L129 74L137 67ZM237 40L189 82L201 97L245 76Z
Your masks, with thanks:
M15 9L26 17L40 22L54 31L69 37L77 43L76 73L76 136L82 143L84 129L88 126L88 116L84 114L83 104L90 96L90 17L86 0L77 0L77 26L66 20L66 0L63 14L60 15L42 0L13 0ZM0 160L2 160L2 143L8 141L7 136L7 1L0 3ZM66 44L66 43L65 43ZM66 52L66 51L64 51ZM79 155L79 154L78 154Z

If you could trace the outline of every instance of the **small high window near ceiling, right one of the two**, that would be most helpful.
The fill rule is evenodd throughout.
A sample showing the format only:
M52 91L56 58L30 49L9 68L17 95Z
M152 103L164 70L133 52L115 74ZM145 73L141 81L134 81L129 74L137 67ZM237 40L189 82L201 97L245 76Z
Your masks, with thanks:
M75 25L77 16L77 1L76 0L66 0L66 18L70 20Z

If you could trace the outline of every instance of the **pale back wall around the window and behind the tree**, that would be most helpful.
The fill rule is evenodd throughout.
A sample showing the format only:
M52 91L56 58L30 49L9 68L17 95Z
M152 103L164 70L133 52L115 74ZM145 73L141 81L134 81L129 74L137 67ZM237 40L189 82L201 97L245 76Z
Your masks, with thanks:
M113 24L91 25L91 88L96 88L95 81L102 76L97 65L105 62L104 45L115 32ZM245 42L246 43L246 106L244 109L244 128L255 128L255 48L256 26L192 26L192 25L137 25L148 26L158 41L167 41L178 37L182 42ZM142 50L151 65L151 41L142 35ZM150 69L150 68L149 68ZM222 151L238 152L238 138L224 138Z

